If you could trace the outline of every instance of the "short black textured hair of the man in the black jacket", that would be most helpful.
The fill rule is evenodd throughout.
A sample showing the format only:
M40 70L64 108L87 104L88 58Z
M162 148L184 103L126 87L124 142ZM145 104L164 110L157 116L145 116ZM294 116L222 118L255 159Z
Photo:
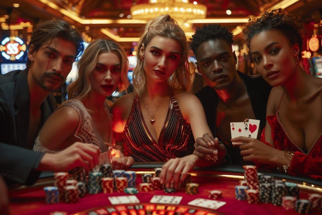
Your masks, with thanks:
M229 32L228 28L220 26L220 24L204 24L190 38L190 47L197 57L197 49L202 43L209 40L223 39L231 45L234 42L232 37L233 34Z

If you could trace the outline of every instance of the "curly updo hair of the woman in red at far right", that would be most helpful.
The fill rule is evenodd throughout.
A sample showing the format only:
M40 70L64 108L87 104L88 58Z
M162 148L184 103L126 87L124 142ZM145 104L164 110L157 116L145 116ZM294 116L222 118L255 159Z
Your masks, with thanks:
M289 15L281 8L265 11L260 17L248 17L248 23L242 26L242 33L248 49L250 49L251 39L254 35L262 31L276 29L289 39L291 45L298 44L300 52L298 57L302 57L303 36L305 28L299 22L299 18Z

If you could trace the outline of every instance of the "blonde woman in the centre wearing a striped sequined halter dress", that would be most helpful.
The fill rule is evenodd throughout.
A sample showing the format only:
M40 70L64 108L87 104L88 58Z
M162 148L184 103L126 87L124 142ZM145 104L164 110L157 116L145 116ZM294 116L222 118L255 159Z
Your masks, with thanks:
M147 23L138 43L134 92L112 106L116 142L134 161L168 161L161 182L184 180L197 156L189 137L211 132L199 99L190 91L188 45L184 31L169 15ZM225 151L218 160L222 160ZM180 172L183 172L180 176Z

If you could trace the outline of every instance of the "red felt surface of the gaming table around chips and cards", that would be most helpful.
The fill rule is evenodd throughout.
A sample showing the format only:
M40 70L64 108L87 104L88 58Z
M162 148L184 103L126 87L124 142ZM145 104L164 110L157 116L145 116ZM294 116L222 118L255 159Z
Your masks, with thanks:
M189 201L196 198L208 199L210 190L221 190L223 197L217 199L224 201L226 204L216 210L224 214L298 214L294 210L284 210L281 206L274 206L271 203L249 204L247 201L239 201L235 199L235 186L239 180L229 178L214 178L214 177L198 177L193 176L193 182L199 183L199 193L195 195L186 194L184 190L178 190L175 193L165 193L162 190L139 192L136 194L141 203L149 203L154 195L175 195L183 196L181 205L187 205ZM137 185L141 182L140 175L137 175ZM41 189L41 190L40 190ZM124 192L114 192L111 194L86 194L84 198L80 198L77 203L57 203L46 204L45 192L42 188L33 189L25 193L10 195L10 211L12 214L49 214L53 211L66 211L68 214L74 214L90 208L108 206L110 202L109 196L124 196L128 195ZM308 199L308 193L301 191L300 198ZM200 208L202 210L202 208ZM312 214L320 214L314 212Z

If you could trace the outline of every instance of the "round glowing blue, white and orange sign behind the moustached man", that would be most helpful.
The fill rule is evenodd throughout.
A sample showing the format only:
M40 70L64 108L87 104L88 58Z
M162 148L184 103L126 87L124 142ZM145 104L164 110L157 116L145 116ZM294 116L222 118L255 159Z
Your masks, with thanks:
M11 61L19 60L26 51L24 41L19 37L6 37L0 44L1 55Z

